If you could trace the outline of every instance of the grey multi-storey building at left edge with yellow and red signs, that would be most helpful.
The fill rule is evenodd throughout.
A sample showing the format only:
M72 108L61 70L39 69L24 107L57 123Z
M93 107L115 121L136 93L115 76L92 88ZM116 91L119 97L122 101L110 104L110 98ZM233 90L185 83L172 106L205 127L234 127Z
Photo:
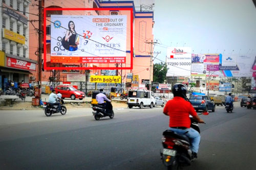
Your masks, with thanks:
M29 83L36 60L29 59L29 0L0 1L0 88L7 81Z

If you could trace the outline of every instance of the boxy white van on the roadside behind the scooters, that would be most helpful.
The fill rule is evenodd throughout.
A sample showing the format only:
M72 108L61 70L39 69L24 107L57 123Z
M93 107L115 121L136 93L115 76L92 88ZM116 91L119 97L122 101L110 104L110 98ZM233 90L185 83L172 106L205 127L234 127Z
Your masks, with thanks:
M156 97L152 91L135 90L128 92L127 105L131 109L133 106L138 106L140 109L143 106L153 108L156 106Z

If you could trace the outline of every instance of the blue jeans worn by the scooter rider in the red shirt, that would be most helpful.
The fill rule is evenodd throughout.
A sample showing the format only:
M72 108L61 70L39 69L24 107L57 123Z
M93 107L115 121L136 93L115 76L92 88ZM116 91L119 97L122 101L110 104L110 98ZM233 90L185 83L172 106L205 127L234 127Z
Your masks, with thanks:
M175 129L175 128L169 128L169 130L172 130L178 134L183 134L186 135L189 139L190 139L190 144L191 144L191 151L198 153L199 150L199 144L200 144L200 139L201 136L198 133L198 131L196 131L193 128L188 128L188 129ZM186 133L187 132L187 133Z

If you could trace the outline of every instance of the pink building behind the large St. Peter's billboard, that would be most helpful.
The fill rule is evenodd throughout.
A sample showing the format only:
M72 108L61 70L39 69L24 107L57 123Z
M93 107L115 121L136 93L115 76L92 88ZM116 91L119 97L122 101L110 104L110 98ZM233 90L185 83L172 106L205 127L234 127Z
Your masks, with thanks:
M122 82L126 82L126 76L128 73L133 73L134 75L139 75L139 83L142 79L150 79L150 61L151 61L151 43L154 40L153 27L154 27L154 13L151 11L140 12L135 10L135 5L133 1L106 1L100 2L98 0L87 0L87 1L73 1L72 3L65 1L45 1L45 8L118 8L118 10L113 11L51 11L47 13L47 19L50 20L50 15L127 15L127 32L126 32L126 63L118 64L118 67L130 67L131 65L131 17L130 11L122 10L122 8L133 8L133 69L132 70L118 70L118 75L122 75ZM38 13L37 6L30 6L30 13ZM30 15L30 20L38 20L37 16ZM50 63L50 21L47 20L47 65L48 66L63 66L70 63ZM35 27L38 27L38 22L32 22ZM30 40L29 40L29 54L30 59L37 60L35 52L38 46L38 34L34 29L34 26L30 23ZM44 43L44 42L42 42ZM77 64L78 66L79 64ZM85 65L80 65L85 66ZM116 64L87 64L88 67L116 67ZM70 70L62 71L60 70L60 80L61 82L66 82L66 75L70 73ZM74 72L76 72L74 70ZM78 71L77 71L78 72ZM105 72L110 72L109 70L90 70L90 75L104 75ZM113 71L112 71L113 72ZM151 72L151 80L153 81L153 64ZM52 70L45 70L42 72L42 84L49 82L49 77L51 77ZM32 77L37 81L38 76L34 74ZM49 83L48 83L49 84Z

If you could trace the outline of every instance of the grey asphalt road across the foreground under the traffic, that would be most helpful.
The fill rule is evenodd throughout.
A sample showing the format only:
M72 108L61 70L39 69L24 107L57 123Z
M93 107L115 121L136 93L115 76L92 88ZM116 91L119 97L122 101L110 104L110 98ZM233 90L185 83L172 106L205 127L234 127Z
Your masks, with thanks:
M198 159L183 169L255 169L256 110L224 107L200 115ZM162 108L115 109L96 121L90 108L46 117L43 110L0 111L0 169L165 169L159 151Z

